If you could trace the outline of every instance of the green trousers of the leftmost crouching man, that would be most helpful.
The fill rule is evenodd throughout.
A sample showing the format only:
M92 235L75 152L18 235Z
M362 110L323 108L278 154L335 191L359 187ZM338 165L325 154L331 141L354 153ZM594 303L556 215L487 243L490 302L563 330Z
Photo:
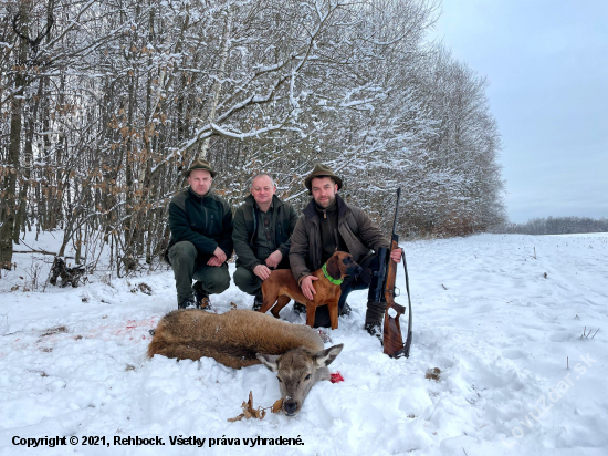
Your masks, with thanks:
M192 279L202 283L209 294L221 293L230 286L228 263L209 266L197 263L198 251L192 242L177 242L169 249L169 262L174 268L177 289L177 303L193 300Z

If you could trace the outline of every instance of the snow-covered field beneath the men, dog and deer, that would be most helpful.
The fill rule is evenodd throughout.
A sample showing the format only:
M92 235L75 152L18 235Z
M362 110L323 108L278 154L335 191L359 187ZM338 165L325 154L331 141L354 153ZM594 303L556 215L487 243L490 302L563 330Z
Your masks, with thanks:
M328 330L332 344L345 346L329 366L344 382L317 384L295 418L235 423L227 419L250 391L255 407L280 397L273 373L146 359L148 330L176 308L170 271L92 277L43 293L24 289L36 274L41 289L46 270L15 256L19 269L0 279L0 455L608 455L608 236L403 246L410 359L381 353L363 330L366 292L354 292L353 313ZM45 234L36 247L56 240ZM397 286L406 304L402 269ZM220 312L252 303L233 284L212 300ZM291 304L282 317L304 321ZM436 367L438 379L427 379ZM14 446L15 436L66 436L67 445ZM83 446L84 436L105 436L109 447ZM160 437L165 446L115 446L114 436ZM170 443L189 436L206 442ZM245 445L258 436L303 445Z

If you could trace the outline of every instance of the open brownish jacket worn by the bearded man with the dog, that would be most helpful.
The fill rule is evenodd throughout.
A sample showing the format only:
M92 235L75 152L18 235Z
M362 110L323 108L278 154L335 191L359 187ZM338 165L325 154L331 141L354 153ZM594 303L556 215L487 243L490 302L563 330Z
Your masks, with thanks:
M363 259L378 251L380 247L390 247L390 242L382 232L371 225L369 216L356 206L347 205L339 195L336 195L338 206L338 231L348 253L360 263ZM302 216L292 234L292 248L290 250L290 263L293 277L301 280L321 268L322 265L321 227L315 200L304 208Z

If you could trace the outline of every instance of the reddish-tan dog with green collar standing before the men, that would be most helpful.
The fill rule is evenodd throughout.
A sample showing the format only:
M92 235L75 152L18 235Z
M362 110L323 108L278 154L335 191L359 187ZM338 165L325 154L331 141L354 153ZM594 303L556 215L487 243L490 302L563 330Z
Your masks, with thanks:
M344 251L336 251L325 263L325 269L328 276L336 281L344 279L346 276L357 276L361 272L361 267L355 262L353 256ZM311 301L302 293L290 269L277 269L272 271L270 277L262 282L264 303L260 312L264 313L272 308L271 313L279 318L281 309L287 305L290 299L293 299L306 305L306 324L313 328L316 308L327 304L332 329L337 329L338 301L342 294L340 286L332 283L329 279L325 277L323 268L314 271L312 276L318 277L318 280L313 282L316 294Z

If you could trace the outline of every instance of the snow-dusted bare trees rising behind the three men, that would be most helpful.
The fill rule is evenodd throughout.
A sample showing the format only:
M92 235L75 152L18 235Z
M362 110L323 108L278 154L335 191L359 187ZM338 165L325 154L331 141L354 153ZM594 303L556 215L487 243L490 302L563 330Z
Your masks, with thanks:
M297 207L316 163L411 236L505 220L488 82L429 42L433 0L8 0L0 18L0 265L63 230L94 269L153 263L196 158L234 207L270 172Z

